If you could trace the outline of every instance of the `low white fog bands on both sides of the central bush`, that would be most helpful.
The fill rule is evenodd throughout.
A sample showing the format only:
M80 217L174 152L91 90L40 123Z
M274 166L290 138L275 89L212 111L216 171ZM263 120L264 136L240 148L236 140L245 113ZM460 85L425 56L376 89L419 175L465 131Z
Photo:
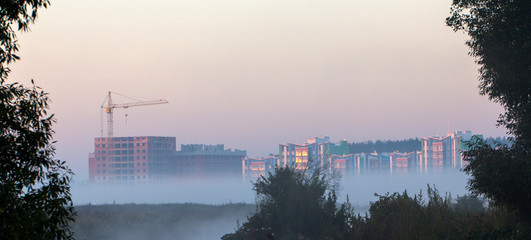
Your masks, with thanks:
M348 194L353 205L367 206L376 200L374 193L402 192L407 189L411 194L426 189L426 185L435 185L441 194L449 192L452 196L464 195L467 176L463 172L448 170L444 172L409 174L362 174L343 176L340 180L339 200L346 200ZM254 203L255 193L251 180L241 179L188 179L175 182L153 184L96 185L73 183L72 197L75 205L106 203Z

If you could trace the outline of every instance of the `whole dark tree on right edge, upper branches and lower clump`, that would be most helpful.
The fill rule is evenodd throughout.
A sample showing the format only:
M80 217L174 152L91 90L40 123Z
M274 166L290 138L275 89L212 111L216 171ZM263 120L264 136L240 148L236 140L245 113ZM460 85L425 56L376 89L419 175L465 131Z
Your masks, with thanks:
M454 0L446 23L470 36L480 94L504 107L498 124L514 138L510 148L472 142L469 188L531 222L531 1Z

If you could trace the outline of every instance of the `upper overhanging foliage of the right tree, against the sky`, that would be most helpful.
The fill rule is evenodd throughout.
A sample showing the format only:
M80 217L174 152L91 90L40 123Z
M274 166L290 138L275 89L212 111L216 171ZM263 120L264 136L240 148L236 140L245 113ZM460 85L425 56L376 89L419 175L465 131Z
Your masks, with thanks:
M500 103L500 124L517 141L531 140L531 2L454 0L446 22L470 36L480 65L480 93Z

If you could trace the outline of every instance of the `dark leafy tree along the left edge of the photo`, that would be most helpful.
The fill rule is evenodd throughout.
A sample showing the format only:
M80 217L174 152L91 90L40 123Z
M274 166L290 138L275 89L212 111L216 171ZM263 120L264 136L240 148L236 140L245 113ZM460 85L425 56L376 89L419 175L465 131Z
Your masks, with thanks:
M7 84L19 59L13 25L27 31L47 0L0 1L0 239L71 239L72 171L54 159L53 115L38 87ZM33 84L33 81L32 81Z

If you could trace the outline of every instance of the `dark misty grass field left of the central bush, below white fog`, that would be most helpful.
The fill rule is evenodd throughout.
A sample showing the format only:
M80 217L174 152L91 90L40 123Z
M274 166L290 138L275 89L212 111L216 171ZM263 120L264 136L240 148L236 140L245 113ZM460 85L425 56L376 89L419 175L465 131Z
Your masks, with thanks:
M77 206L76 239L211 240L234 231L251 204L107 204Z

